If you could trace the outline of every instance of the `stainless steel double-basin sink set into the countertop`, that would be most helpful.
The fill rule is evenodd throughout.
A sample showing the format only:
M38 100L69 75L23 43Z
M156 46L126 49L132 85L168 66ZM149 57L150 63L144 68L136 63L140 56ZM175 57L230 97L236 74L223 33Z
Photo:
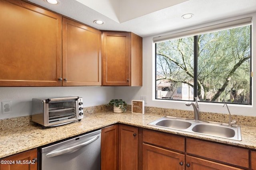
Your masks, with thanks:
M240 125L228 126L228 123L194 121L171 116L162 117L148 125L242 141Z

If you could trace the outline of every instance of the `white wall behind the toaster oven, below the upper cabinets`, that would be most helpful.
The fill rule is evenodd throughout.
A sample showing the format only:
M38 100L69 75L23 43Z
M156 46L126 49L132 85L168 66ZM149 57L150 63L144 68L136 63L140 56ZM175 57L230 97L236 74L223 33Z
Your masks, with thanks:
M0 102L12 101L12 113L2 114L0 119L31 115L32 98L80 96L84 98L84 107L107 104L114 98L114 87L0 87Z

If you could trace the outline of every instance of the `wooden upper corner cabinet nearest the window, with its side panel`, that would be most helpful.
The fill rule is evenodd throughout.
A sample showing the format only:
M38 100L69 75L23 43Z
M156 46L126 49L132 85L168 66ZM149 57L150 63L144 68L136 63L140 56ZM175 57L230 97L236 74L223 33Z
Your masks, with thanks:
M102 85L142 86L142 37L103 32Z

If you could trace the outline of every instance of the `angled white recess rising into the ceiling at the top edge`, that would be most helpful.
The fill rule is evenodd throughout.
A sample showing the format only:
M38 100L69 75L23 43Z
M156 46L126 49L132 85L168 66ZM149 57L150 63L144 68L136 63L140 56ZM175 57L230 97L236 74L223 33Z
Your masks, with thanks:
M188 0L76 0L89 8L122 23L180 4Z

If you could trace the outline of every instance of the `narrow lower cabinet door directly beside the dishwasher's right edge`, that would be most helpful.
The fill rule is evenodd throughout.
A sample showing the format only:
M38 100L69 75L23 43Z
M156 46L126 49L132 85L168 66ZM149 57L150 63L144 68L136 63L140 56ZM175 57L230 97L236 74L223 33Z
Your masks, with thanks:
M118 170L118 125L102 129L101 170Z

